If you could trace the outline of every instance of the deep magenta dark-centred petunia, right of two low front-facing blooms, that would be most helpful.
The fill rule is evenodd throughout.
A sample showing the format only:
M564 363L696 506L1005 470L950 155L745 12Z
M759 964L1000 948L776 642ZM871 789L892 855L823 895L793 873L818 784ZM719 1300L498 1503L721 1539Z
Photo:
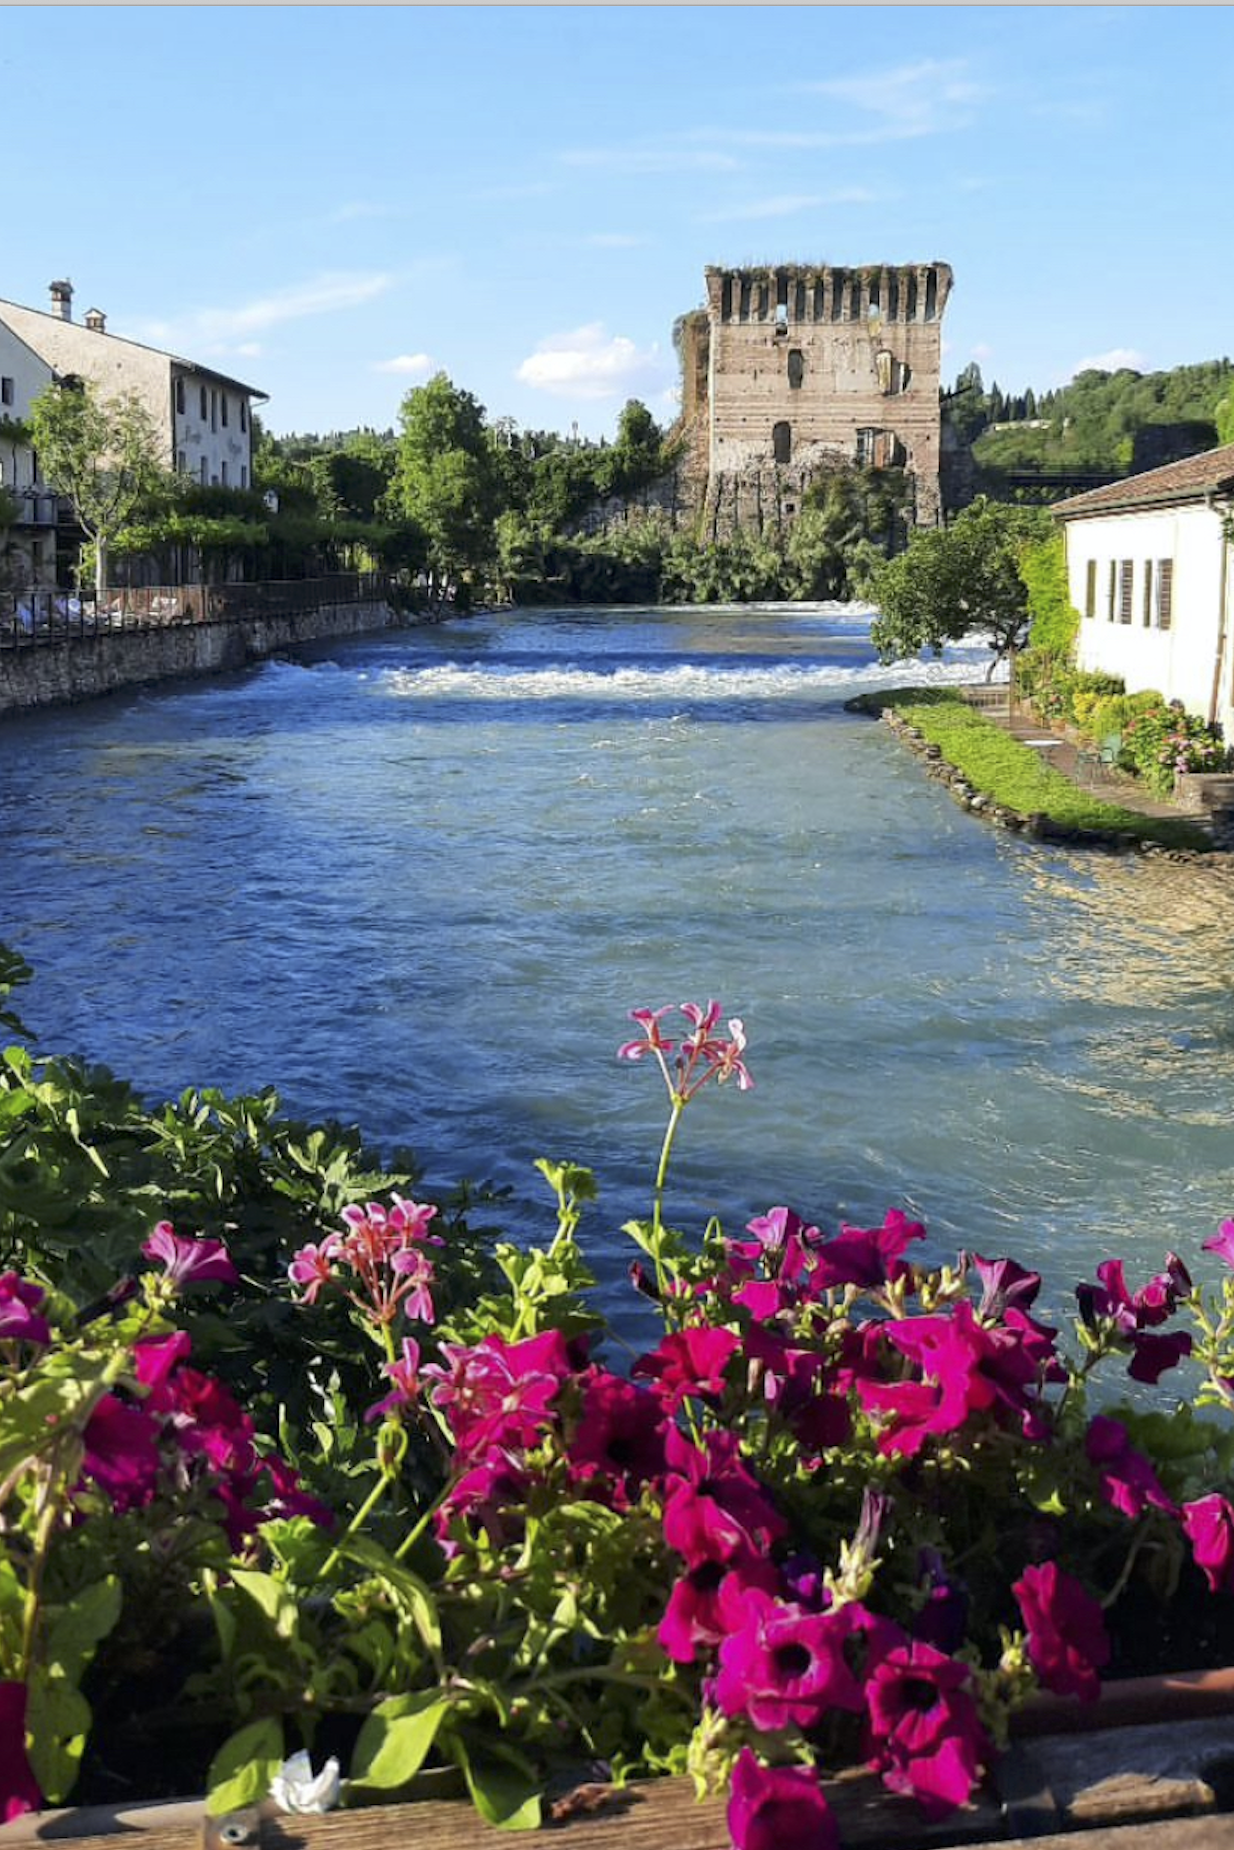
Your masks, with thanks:
M971 1671L932 1645L890 1650L866 1682L870 1765L927 1817L971 1796L992 1746L971 1695Z

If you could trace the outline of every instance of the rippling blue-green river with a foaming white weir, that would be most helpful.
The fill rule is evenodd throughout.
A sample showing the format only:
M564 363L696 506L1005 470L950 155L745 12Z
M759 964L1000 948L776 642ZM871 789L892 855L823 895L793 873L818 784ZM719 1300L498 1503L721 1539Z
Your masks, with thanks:
M1234 890L960 812L857 690L845 607L524 610L0 727L20 1012L142 1093L274 1084L429 1193L596 1169L612 1306L664 1121L627 1010L718 997L755 1090L686 1114L670 1219L888 1206L1043 1265L1188 1260L1234 1214ZM618 1308L618 1323L623 1312Z

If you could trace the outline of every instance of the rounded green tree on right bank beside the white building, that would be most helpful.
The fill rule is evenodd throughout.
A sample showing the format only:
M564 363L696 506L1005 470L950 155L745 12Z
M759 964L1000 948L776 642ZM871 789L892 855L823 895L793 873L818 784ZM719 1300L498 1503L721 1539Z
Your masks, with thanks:
M1029 633L1023 548L1051 531L1040 507L1005 507L984 498L949 527L929 527L873 574L879 616L870 636L884 662L984 633L997 662L1021 649Z

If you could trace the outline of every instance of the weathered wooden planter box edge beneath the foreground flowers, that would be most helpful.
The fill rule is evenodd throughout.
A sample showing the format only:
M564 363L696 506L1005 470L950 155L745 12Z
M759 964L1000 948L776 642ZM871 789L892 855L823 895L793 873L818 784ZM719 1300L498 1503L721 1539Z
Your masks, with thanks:
M1154 1720L1101 1726L1117 1719L1119 1698L1097 1711L1062 1704L1029 1711L1027 1726L1003 1756L981 1798L942 1824L927 1824L912 1800L895 1798L871 1774L829 1782L845 1850L1234 1850L1234 1676L1162 1678L1129 1685L1132 1706ZM1180 1700L1184 1719L1171 1715ZM1190 1713L1190 1719L1186 1711ZM1199 1713L1195 1713L1199 1711ZM1092 1726L1097 1722L1097 1726ZM697 1802L688 1780L581 1787L559 1800L549 1830L562 1850L729 1850L727 1806ZM130 1850L213 1850L200 1800L131 1809L46 1811L0 1828L0 1850L57 1843L100 1850L122 1833ZM259 1850L496 1850L518 1837L483 1824L470 1806L424 1800L331 1811L326 1817L265 1820ZM107 1846L102 1846L107 1850ZM784 1844L783 1850L794 1850Z

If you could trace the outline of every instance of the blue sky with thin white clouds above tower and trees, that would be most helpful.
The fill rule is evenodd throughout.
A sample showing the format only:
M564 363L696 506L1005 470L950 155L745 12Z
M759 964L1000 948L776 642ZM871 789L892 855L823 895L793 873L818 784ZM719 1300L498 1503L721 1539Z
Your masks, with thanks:
M4 6L0 296L396 424L673 413L707 263L955 270L944 379L1234 350L1225 6Z

